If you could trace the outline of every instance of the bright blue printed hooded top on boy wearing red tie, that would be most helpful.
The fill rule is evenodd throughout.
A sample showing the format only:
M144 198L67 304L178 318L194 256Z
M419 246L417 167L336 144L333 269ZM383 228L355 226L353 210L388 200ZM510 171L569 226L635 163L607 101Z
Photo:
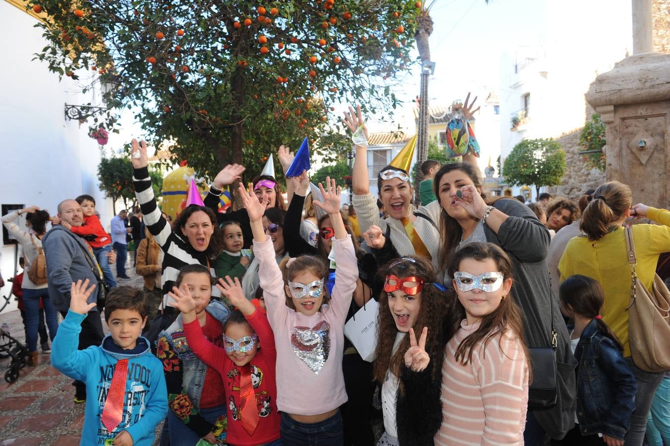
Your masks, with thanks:
M151 446L156 426L167 414L167 390L161 362L151 354L146 338L138 338L133 350L123 350L111 336L99 347L77 350L81 323L86 315L68 311L54 338L51 362L70 378L86 383L84 429L80 445L104 445L121 431L133 437L135 446ZM128 359L123 419L113 431L100 417L117 360Z

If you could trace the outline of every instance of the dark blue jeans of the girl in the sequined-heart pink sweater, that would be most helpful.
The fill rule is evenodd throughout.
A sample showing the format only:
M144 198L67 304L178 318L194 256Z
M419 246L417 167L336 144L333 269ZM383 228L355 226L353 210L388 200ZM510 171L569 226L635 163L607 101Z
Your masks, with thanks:
M282 412L279 429L283 446L342 446L344 444L340 411L318 423L299 423Z

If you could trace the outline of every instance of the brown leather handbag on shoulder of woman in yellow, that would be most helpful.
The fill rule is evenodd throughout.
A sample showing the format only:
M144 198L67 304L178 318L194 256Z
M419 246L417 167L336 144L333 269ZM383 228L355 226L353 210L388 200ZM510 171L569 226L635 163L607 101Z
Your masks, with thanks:
M632 360L645 372L667 372L670 370L670 291L656 273L651 291L639 281L630 226L626 228L626 252L630 266L630 304L626 309Z

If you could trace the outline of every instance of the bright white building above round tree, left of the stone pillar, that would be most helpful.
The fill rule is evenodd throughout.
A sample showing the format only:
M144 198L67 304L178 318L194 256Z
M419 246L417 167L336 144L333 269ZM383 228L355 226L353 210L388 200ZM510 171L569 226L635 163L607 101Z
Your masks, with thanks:
M555 138L584 126L590 84L632 48L630 8L630 0L547 0L543 44L500 58L501 163L521 139ZM515 73L526 56L537 60ZM527 92L530 121L511 131L511 113L523 107Z

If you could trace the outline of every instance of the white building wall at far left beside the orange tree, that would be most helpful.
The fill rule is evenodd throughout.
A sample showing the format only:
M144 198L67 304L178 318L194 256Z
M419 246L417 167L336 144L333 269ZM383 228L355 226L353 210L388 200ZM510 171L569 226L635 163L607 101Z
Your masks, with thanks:
M46 63L32 60L46 46L36 23L34 17L0 1L0 27L5 36L12 36L11 42L7 38L0 46L0 60L5 62L0 70L0 203L36 205L55 215L60 201L90 194L103 226L109 226L111 200L105 199L97 181L100 149L88 137L92 119L80 125L64 115L66 103L86 104L94 92L81 94L70 78L59 82ZM0 249L0 271L6 282L13 275L14 250L12 245ZM0 295L7 295L10 287L7 283ZM4 311L11 309L14 302Z

